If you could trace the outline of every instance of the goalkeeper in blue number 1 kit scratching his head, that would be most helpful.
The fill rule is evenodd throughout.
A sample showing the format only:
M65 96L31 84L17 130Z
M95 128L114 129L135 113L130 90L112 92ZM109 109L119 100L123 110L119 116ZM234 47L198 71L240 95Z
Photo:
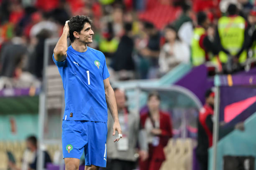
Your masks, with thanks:
M66 170L78 170L83 151L85 170L106 167L108 108L114 120L113 135L118 131L115 141L122 138L105 56L87 47L94 34L91 24L87 16L70 18L54 48L53 60L65 91L62 149ZM67 37L71 40L69 47Z

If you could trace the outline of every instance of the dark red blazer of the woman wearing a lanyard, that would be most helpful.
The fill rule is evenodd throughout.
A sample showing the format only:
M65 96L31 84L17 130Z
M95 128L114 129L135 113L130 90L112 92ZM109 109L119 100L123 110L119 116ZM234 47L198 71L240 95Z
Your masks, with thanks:
M160 116L160 130L159 145L153 146L149 144L149 159L152 160L165 160L164 147L167 145L169 138L172 137L172 121L168 113L159 112ZM141 115L141 127L145 127L145 122L149 117L149 113L143 113Z

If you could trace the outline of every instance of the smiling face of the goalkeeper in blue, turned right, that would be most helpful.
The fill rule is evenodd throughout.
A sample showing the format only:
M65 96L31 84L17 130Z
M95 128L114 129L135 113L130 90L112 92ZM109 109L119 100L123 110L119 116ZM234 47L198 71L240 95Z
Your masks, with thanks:
M84 28L79 33L79 40L84 43L92 43L92 35L94 32L92 31L92 27L89 23L84 24Z

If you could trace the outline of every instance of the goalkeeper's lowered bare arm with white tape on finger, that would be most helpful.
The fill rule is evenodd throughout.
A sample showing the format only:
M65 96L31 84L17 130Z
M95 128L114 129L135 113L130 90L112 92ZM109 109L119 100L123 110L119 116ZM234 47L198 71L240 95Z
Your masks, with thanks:
M104 88L105 88L106 102L114 120L112 135L115 135L115 131L118 131L118 134L122 134L122 130L121 130L119 119L118 119L118 110L116 106L114 90L111 87L108 78L103 80L103 82L104 82ZM115 141L118 141L119 139L120 138L117 138L115 139Z

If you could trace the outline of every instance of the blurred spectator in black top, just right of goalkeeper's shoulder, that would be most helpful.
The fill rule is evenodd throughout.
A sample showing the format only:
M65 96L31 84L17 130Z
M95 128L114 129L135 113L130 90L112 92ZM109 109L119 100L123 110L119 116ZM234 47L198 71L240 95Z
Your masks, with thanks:
M134 78L134 61L133 53L133 39L132 39L132 24L124 24L125 33L121 37L118 49L113 55L111 67L114 69L115 79L128 80Z

